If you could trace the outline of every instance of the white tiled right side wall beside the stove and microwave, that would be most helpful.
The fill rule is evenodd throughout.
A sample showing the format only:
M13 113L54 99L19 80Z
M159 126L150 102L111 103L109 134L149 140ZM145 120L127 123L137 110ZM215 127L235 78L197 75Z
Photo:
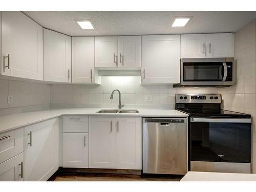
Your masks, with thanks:
M256 173L256 21L235 34L235 61L237 83L229 88L219 88L223 108L251 114L252 116L252 171Z

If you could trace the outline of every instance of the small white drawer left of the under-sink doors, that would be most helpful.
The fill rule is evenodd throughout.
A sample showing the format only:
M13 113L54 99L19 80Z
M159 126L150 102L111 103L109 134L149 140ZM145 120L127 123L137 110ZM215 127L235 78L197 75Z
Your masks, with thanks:
M70 115L63 117L63 132L88 133L89 116Z

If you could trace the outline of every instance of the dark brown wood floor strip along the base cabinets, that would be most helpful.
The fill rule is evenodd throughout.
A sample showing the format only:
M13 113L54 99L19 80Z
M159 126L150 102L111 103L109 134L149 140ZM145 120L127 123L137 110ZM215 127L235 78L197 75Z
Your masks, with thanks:
M55 174L48 181L180 181L182 177L142 177L126 174Z

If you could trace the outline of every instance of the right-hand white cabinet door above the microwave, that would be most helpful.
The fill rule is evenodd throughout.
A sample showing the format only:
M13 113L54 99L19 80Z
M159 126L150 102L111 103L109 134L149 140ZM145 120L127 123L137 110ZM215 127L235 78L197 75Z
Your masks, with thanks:
M234 57L234 34L206 34L207 57Z

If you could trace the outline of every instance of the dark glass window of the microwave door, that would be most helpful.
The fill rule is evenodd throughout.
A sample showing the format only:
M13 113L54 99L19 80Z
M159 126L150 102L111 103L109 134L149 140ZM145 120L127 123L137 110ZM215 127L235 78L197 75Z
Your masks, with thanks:
M222 81L220 63L183 63L183 81Z

